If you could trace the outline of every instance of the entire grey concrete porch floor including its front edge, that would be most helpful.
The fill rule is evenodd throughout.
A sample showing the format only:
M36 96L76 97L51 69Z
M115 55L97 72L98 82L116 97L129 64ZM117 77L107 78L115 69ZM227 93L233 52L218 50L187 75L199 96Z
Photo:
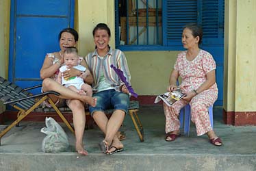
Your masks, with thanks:
M233 127L222 123L222 110L214 109L214 131L223 145L213 146L206 135L197 137L192 124L190 136L181 135L174 142L164 140L165 118L162 107L140 107L144 142L130 117L123 127L125 150L105 155L99 149L103 133L98 128L86 130L84 144L88 156L75 152L75 136L61 124L68 135L69 148L64 153L43 153L44 122L21 122L1 139L0 171L5 170L256 170L256 127ZM183 133L183 130L181 130Z

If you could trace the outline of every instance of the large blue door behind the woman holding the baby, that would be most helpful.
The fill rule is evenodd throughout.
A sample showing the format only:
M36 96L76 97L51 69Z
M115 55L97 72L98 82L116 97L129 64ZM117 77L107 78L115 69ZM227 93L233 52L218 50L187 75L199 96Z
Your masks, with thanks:
M10 81L22 88L42 83L44 57L60 51L57 36L62 29L73 27L74 6L75 0L11 1Z

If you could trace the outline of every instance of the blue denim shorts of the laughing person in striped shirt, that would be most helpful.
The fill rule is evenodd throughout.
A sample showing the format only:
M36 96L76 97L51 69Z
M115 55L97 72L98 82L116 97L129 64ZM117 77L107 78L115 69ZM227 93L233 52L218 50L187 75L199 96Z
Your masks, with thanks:
M89 111L91 116L94 111L104 111L106 109L120 109L128 113L129 107L129 95L123 92L117 92L114 89L105 90L93 94L94 98L97 98L97 105L95 107L90 106Z

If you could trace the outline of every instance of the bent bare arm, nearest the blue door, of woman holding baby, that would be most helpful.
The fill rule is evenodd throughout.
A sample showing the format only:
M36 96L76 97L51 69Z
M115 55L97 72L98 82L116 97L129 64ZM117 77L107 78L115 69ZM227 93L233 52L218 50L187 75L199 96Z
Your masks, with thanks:
M60 68L61 62L56 62L53 64L53 59L48 55L44 58L44 63L40 70L41 79L49 78L54 75L54 73Z

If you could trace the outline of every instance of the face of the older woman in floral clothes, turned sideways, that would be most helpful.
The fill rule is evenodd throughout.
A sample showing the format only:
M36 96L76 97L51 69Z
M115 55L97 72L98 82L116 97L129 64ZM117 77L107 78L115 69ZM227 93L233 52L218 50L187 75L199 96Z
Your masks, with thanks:
M199 47L199 36L192 35L192 31L188 28L183 29L182 33L182 44L185 49L191 49L194 47Z

